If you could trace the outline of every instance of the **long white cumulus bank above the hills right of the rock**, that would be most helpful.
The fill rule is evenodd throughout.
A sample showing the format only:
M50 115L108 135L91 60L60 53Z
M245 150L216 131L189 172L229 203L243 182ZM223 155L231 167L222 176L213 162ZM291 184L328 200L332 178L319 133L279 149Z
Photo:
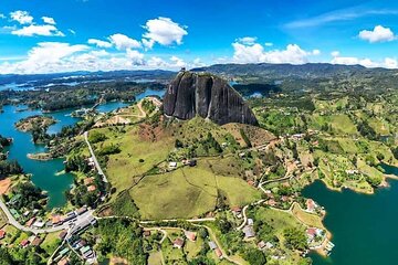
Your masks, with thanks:
M289 44L285 50L265 51L259 43L247 44L245 42L232 43L235 63L291 63L304 64L308 56L321 54L320 50L304 51L297 44Z

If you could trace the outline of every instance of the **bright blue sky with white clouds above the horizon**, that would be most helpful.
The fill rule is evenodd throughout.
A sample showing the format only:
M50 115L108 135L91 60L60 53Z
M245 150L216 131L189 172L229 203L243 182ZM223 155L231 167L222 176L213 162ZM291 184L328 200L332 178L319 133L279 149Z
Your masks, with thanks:
M383 0L2 0L0 74L260 62L398 67L396 32L398 3Z

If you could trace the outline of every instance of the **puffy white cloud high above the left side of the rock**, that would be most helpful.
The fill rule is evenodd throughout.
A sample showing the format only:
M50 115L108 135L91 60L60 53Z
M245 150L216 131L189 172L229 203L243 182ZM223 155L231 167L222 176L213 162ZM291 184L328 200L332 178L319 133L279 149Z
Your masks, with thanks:
M156 42L161 45L171 45L174 43L180 45L182 44L182 38L188 34L186 26L179 25L169 18L161 17L148 20L144 29L147 32L143 35L146 39L143 42L147 49L151 49Z

